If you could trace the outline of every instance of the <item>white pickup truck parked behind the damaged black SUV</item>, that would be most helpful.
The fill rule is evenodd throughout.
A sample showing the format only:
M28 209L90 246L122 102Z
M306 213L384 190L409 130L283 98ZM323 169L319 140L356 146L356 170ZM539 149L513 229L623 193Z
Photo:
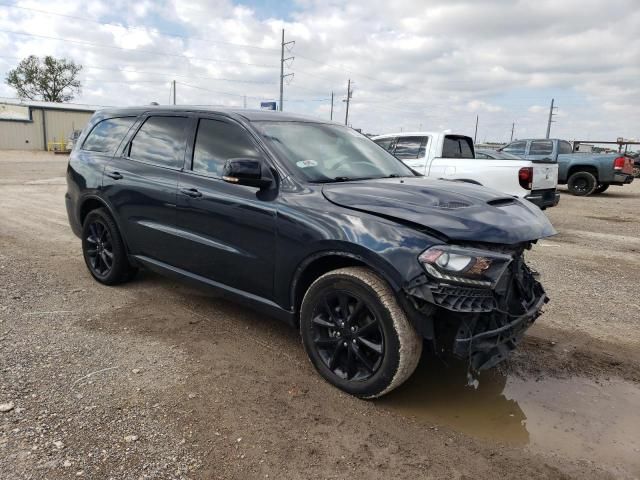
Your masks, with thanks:
M476 156L473 139L448 132L389 133L372 140L427 177L484 185L542 209L560 200L558 163L551 159L525 160L500 152Z

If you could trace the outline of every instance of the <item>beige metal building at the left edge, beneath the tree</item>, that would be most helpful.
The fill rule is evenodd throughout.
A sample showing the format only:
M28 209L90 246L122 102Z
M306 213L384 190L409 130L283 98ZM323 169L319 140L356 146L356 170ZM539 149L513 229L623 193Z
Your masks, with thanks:
M0 150L64 150L98 108L0 98Z

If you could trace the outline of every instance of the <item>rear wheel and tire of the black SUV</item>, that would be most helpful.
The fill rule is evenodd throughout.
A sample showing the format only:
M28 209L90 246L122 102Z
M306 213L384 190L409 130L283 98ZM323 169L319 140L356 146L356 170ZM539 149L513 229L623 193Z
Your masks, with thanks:
M93 278L105 285L126 282L137 272L129 264L116 223L103 208L89 212L84 219L82 253Z

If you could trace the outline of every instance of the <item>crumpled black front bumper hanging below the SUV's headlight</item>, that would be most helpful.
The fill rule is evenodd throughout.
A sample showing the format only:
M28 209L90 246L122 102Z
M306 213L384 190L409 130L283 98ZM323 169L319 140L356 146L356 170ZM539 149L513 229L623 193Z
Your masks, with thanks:
M407 284L405 293L428 324L417 329L435 351L467 359L475 371L508 358L549 301L522 256L495 289L446 284L425 274Z

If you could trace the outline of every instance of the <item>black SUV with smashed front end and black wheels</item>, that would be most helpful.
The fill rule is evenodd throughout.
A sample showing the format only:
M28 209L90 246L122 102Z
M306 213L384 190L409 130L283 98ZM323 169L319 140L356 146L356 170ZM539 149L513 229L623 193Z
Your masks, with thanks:
M404 382L423 343L474 371L495 365L547 301L523 259L555 233L540 209L424 179L334 123L104 110L67 183L96 280L146 267L213 287L299 328L318 372L362 398Z

